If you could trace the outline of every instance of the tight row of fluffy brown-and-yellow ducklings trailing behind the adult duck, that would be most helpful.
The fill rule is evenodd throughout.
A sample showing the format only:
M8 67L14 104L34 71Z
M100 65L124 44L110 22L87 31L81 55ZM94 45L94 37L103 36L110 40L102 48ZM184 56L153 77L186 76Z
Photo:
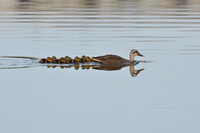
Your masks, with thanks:
M92 62L92 59L89 56L83 55L81 58L75 57L72 59L69 56L61 57L60 59L57 59L55 56L42 58L39 63L53 63L53 64L71 64L71 63L87 63Z

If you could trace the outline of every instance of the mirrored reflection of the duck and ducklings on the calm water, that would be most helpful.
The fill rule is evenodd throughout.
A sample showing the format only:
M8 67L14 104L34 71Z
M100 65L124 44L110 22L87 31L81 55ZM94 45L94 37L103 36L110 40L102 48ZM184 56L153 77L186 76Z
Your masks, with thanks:
M118 71L124 67L129 67L129 72L132 77L136 77L142 69L135 69L135 65L139 64L139 61L131 63L131 64L124 64L124 65L101 65L101 64L74 64L74 65L47 65L47 68L74 68L75 70L88 70L88 69L95 69L95 70L102 70L102 71Z

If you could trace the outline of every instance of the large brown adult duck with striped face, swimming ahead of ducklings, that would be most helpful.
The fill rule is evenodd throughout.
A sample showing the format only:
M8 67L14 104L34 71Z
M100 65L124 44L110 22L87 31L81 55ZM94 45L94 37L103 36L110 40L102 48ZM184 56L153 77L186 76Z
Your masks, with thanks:
M112 55L112 54L93 57L92 60L93 60L93 62L98 62L98 63L103 64L103 65L122 65L122 64L134 63L135 62L135 60L134 60L135 56L144 57L144 55L140 54L138 52L138 50L133 49L130 52L130 59L129 60L122 58L118 55Z

